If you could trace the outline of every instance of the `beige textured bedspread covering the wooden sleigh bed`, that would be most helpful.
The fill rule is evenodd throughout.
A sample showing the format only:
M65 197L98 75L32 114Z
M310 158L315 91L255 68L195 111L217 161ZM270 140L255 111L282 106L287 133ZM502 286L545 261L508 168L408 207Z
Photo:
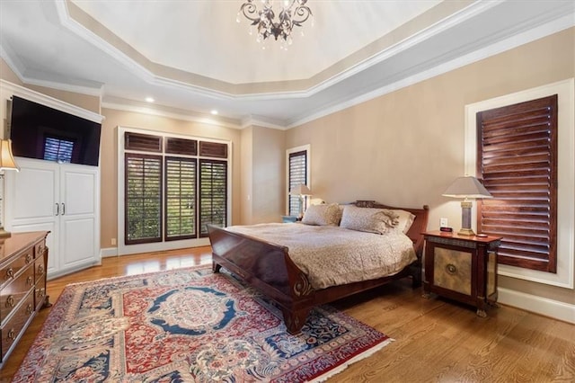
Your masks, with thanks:
M393 275L417 259L411 239L399 230L378 235L342 227L279 223L227 230L287 246L290 258L314 289Z

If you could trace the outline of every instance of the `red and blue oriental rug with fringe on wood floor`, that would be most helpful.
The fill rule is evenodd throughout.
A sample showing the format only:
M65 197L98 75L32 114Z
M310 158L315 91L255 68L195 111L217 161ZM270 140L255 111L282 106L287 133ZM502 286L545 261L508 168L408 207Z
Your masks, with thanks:
M391 341L327 306L288 334L233 276L180 269L67 286L13 380L322 381Z

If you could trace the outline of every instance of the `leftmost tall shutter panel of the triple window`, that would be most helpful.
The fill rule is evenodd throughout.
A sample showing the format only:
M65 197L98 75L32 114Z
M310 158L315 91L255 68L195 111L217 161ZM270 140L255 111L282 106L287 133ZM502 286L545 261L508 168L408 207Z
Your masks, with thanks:
M125 155L125 243L162 240L162 156Z

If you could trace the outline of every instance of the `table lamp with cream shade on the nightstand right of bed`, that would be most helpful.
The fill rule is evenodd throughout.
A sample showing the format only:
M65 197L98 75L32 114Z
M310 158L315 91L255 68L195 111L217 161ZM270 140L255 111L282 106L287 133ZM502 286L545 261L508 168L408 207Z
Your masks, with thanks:
M470 199L492 198L491 194L479 180L473 176L466 175L458 177L446 191L444 197L462 198L461 201L461 230L457 233L460 236L474 236L471 228L471 208L473 201Z

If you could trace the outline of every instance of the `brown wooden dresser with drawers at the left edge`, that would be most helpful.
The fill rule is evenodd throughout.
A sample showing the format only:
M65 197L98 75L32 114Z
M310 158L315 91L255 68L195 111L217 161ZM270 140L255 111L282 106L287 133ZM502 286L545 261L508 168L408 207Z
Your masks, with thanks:
M46 269L49 231L0 239L0 369L42 307L49 307Z

